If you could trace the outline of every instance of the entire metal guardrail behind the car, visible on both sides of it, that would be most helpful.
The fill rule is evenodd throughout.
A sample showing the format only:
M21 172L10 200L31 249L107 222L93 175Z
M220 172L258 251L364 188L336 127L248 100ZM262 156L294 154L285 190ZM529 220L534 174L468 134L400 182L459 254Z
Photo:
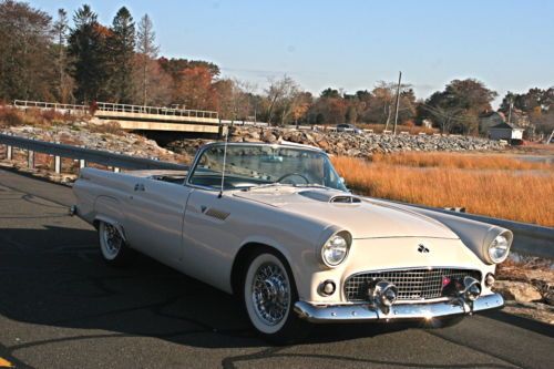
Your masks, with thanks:
M85 165L85 162L91 162L111 166L114 170L120 167L129 170L176 170L176 171L188 170L188 166L182 164L161 162L152 158L134 157L117 153L111 153L106 151L84 148L60 143L30 140L1 133L0 133L0 144L4 144L8 146L7 155L9 160L12 158L12 147L20 147L27 150L29 153L28 155L29 166L32 166L34 163L34 152L54 155L57 157L55 160L57 173L61 172L60 157L70 157L80 160L81 167ZM423 205L406 204L406 203L399 203L399 204L455 215L507 228L512 230L514 234L513 249L515 252L554 258L554 228L506 221L506 219L492 218L482 215L458 213Z

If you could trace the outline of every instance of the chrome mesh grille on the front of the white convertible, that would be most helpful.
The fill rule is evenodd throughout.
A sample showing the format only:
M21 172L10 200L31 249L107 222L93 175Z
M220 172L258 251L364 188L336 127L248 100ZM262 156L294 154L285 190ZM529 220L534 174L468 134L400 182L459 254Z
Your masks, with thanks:
M386 279L398 288L397 300L431 299L442 296L442 280L471 276L481 280L481 271L470 269L396 269L360 273L348 277L345 295L349 301L367 301L369 285L375 280Z

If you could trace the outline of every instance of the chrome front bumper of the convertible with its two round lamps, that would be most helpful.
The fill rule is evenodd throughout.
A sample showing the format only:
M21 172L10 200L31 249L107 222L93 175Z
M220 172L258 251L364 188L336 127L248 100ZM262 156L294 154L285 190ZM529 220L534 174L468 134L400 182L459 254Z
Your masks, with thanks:
M397 300L397 287L378 280L368 288L368 303L319 306L306 301L295 304L295 311L311 322L348 322L390 319L432 319L501 308L499 294L481 295L481 284L472 278L453 280L444 288L445 296L435 301L404 303Z

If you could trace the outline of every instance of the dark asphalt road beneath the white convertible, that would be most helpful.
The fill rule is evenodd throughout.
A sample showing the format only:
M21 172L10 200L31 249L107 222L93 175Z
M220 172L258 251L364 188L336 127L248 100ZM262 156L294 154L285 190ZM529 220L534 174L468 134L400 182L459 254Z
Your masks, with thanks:
M235 300L146 257L103 264L69 187L0 170L0 367L553 368L552 326L502 311L443 329L319 326L256 338Z

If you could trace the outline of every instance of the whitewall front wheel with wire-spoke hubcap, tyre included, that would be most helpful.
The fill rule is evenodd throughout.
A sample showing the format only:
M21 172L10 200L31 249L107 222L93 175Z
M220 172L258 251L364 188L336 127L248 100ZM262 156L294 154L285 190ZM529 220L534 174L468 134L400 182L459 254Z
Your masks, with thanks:
M293 311L298 300L295 281L285 259L273 250L250 257L244 277L243 301L254 328L265 339L288 344L306 332L305 322Z

